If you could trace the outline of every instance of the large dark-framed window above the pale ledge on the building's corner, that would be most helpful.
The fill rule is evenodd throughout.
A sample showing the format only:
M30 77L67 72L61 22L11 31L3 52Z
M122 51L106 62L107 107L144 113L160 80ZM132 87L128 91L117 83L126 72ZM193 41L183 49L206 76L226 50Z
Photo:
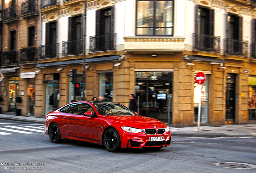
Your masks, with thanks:
M137 36L173 36L173 0L137 0Z

